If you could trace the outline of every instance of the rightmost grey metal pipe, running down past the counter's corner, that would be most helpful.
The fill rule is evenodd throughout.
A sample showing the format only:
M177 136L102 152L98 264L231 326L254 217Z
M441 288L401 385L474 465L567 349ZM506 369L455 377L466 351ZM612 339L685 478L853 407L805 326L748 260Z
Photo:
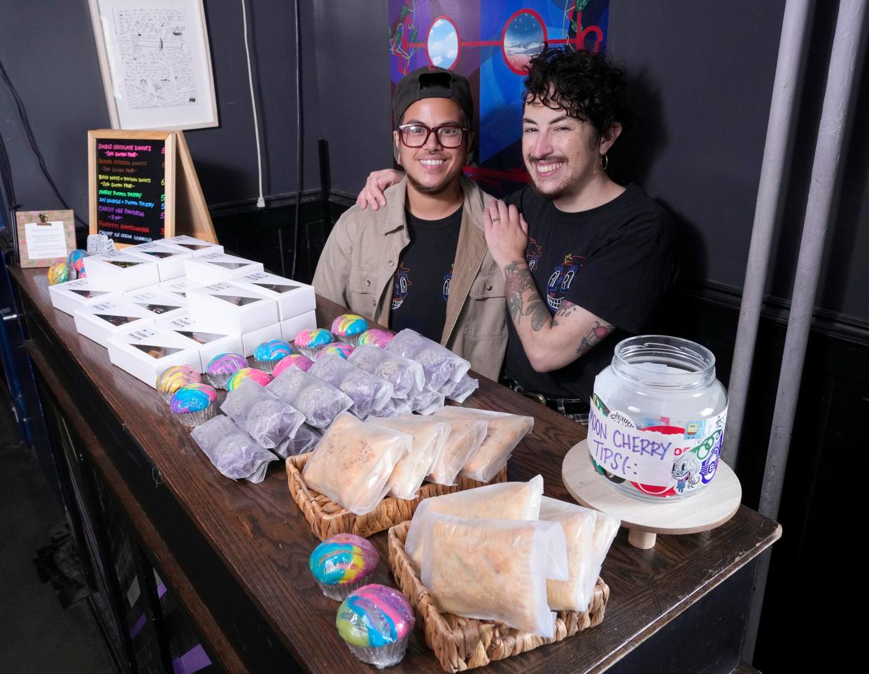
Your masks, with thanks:
M812 181L806 201L806 217L799 244L791 312L787 320L779 388L776 392L773 428L766 452L766 469L760 492L759 511L775 519L779 514L785 482L787 454L793 433L793 418L799 397L799 382L806 358L806 344L812 327L815 294L824 254L826 231L833 208L833 191L839 173L842 142L851 105L854 71L860 52L860 34L866 17L866 0L842 0L836 17L836 35L827 73L824 104L812 165ZM753 657L760 626L760 609L769 574L770 551L760 557L754 579L752 605L748 614L743 657Z

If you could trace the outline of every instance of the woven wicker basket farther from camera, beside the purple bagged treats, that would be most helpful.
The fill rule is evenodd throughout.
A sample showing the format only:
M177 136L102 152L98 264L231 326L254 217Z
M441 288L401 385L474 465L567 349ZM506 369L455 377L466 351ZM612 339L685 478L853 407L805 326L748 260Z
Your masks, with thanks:
M414 516L416 506L420 505L422 499L461 492L464 489L474 489L474 487L484 484L504 482L507 479L507 466L504 466L488 483L463 478L461 475L458 477L458 484L454 486L434 485L426 482L420 487L420 495L415 499L395 499L395 497L388 496L373 511L364 515L355 515L329 499L328 496L308 489L304 478L302 478L302 468L308 461L308 456L310 456L309 453L299 454L287 459L287 480L293 500L302 508L305 519L311 525L311 531L320 540L335 536L336 533L355 533L357 536L368 537L374 533L385 531L390 526L397 525L406 519L411 519Z

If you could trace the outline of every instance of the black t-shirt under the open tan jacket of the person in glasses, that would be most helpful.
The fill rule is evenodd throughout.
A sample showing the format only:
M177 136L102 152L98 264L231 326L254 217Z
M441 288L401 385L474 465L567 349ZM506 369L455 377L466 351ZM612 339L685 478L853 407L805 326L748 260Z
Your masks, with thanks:
M395 270L389 313L389 327L395 332L410 327L430 340L441 341L461 210L460 206L441 220L421 220L405 212L410 243L401 251Z

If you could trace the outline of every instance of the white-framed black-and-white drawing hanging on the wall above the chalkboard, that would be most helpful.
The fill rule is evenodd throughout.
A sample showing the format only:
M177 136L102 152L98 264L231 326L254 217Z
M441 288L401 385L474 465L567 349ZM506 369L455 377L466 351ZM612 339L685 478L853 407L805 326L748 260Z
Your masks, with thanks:
M112 129L217 126L202 0L89 0Z

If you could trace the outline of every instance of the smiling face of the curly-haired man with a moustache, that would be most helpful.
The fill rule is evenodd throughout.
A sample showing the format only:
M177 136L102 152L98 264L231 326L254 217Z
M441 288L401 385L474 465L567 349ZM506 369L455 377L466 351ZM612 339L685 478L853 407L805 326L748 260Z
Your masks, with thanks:
M561 208L579 199L596 181L608 180L600 156L619 131L615 125L608 134L599 135L590 123L568 116L565 109L530 100L522 118L522 156L534 187Z

